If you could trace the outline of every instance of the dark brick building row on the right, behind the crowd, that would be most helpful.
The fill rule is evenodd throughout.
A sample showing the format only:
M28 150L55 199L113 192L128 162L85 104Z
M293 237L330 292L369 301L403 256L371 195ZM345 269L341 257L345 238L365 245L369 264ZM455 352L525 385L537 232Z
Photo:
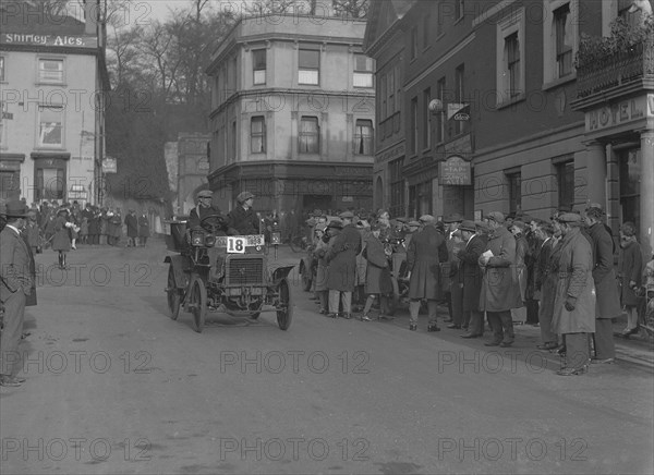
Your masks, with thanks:
M365 48L375 59L385 49L377 50L383 11L398 4L405 11L392 26L404 44L405 214L548 218L598 202L615 230L633 220L650 242L650 47L633 59L640 75L608 83L609 95L589 93L580 74L591 73L576 68L583 35L609 35L620 15L638 24L630 1L374 1ZM606 119L625 109L628 119ZM390 198L384 205L393 208Z

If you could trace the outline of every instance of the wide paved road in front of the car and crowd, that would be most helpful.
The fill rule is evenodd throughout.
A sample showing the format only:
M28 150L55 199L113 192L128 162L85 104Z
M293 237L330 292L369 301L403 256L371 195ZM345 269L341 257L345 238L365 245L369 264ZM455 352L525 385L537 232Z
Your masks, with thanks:
M165 254L81 249L68 276L38 256L27 381L0 393L2 474L654 471L650 368L562 378L526 328L489 350L410 332L405 313L331 320L299 283L289 331L263 314L198 334L167 316Z

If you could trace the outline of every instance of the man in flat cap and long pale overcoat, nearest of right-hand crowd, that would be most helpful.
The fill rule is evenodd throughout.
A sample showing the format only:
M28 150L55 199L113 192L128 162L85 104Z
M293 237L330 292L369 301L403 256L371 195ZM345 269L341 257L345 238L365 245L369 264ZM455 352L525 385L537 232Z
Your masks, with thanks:
M566 366L557 374L580 375L588 370L591 360L589 333L595 331L595 285L593 282L593 251L581 233L581 216L566 212L558 217L562 240L554 301L553 329L564 336Z

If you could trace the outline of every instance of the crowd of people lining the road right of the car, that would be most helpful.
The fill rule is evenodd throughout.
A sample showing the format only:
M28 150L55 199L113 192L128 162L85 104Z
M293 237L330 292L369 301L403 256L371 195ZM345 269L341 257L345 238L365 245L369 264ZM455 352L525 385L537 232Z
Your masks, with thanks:
M616 247L597 204L549 220L499 211L481 221L390 219L386 210L313 215L307 224L320 314L371 321L379 301L376 318L391 318L384 301L393 292L392 276L408 284L410 330L417 329L424 303L428 331L440 330L439 304L448 308L447 328L463 330L461 338L483 337L486 320L486 346L510 346L517 324L534 325L537 348L565 356L559 374L566 376L615 362L613 319L625 310L622 334L638 332L645 280L654 280L654 256L644 263L634 224L622 223Z

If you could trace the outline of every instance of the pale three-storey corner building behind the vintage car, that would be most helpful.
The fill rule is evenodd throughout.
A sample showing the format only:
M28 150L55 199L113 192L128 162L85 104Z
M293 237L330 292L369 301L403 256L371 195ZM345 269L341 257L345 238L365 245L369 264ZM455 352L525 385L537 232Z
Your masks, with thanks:
M213 56L209 186L223 209L372 207L373 61L365 21L242 19Z

